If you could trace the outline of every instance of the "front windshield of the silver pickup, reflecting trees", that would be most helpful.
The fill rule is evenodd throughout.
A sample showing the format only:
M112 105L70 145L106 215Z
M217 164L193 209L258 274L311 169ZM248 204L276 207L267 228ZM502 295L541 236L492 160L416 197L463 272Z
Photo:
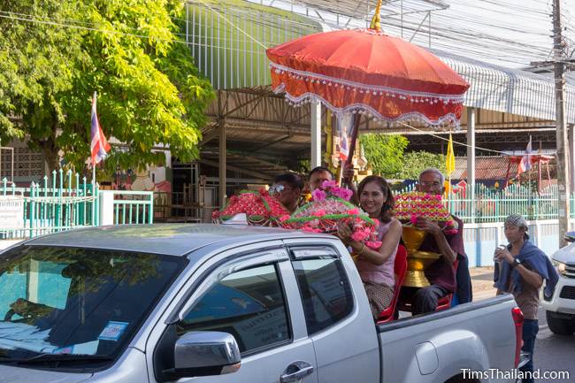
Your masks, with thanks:
M108 363L186 263L100 249L22 246L5 252L0 363Z

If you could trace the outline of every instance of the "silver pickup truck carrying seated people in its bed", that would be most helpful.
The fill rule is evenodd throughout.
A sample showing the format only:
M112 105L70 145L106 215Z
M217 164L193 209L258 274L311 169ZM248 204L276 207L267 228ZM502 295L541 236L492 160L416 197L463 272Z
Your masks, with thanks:
M0 318L12 383L513 381L522 326L510 295L374 324L334 236L212 225L6 249Z

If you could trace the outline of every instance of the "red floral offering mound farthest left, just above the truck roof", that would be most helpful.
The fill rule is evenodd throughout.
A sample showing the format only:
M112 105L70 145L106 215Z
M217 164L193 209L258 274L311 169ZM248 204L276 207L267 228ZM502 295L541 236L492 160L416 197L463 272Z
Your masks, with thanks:
M222 223L245 213L250 225L282 226L281 220L289 218L288 210L272 197L265 188L259 191L243 190L239 195L232 196L221 211L211 215L214 223Z

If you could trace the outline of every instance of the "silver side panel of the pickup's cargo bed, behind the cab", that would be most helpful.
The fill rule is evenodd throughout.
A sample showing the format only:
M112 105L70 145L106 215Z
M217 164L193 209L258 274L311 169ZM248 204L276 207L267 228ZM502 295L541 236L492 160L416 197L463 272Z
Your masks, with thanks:
M511 315L515 307L512 295L499 295L378 325L380 381L445 382L463 375L464 369L510 372L515 361L510 353L516 346Z

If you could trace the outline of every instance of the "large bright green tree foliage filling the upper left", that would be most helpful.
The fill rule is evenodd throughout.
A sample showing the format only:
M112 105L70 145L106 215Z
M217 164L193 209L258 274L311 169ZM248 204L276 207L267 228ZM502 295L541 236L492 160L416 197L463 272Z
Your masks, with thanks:
M27 136L51 168L61 150L80 170L96 91L104 134L125 144L109 169L161 164L164 145L197 157L213 91L177 42L183 2L4 0L0 12L0 138Z

